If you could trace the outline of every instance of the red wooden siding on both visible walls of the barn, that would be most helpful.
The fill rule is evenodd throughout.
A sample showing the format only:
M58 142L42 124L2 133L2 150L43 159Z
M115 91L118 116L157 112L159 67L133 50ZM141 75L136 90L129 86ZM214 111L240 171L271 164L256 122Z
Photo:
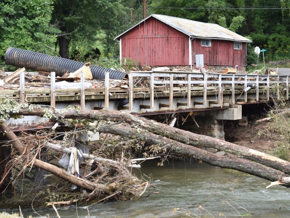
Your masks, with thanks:
M155 18L147 19L120 38L122 58L136 60L139 65L189 65L189 37ZM200 39L193 39L191 46L192 64L195 55L203 54L208 66L246 66L245 43L241 50L234 50L232 41L211 40L211 47L202 47Z

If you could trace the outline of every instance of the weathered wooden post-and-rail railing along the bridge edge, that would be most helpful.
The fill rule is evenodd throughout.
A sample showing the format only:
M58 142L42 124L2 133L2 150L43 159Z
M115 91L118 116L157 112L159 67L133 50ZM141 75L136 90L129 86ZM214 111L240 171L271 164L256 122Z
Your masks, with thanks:
M279 91L281 86L285 91L284 99L288 100L289 90L289 77L278 75L254 75L254 74L217 74L217 73L192 73L192 72L173 72L173 71L152 71L152 72L129 72L129 86L128 90L121 89L122 92L127 92L129 99L128 110L133 109L133 99L136 92L142 90L146 94L146 98L150 98L150 105L140 105L140 109L153 109L154 108L154 94L160 90L158 87L165 86L168 90L168 104L161 104L159 107L172 108L173 107L173 93L174 91L180 91L177 86L183 86L182 91L187 95L186 103L177 103L177 106L190 107L192 92L203 92L203 101L196 102L196 104L207 105L207 102L214 102L222 106L223 102L236 103L235 94L240 94L241 90L244 92L243 99L238 99L239 102L247 102L247 90L248 86L251 86L251 90L255 90L255 101L259 101L259 91L263 90L266 93L266 98L263 101L269 101L270 89L276 89L276 98L279 99ZM149 87L136 88L134 79L138 78L138 81L143 78L149 80ZM140 79L139 79L140 78ZM242 89L240 89L242 87ZM231 91L230 100L223 100L222 95L225 89ZM237 91L235 89L238 89ZM213 91L216 95L215 100L208 100L208 90ZM51 72L50 76L50 89L31 90L24 89L24 72L20 73L19 78L19 90L0 90L0 95L19 95L21 101L25 101L25 95L29 94L41 94L50 95L50 105L55 107L55 98L59 95L65 95L67 93L79 93L80 106L84 108L85 94L100 95L97 100L104 100L104 107L109 106L110 92L115 92L116 88L109 88L109 73L105 73L105 83L103 88L84 88L84 74L80 76L80 88L74 89L55 89L55 73ZM185 96L184 93L184 96ZM211 93L212 94L212 93ZM228 95L228 94L227 94ZM230 95L230 94L229 94ZM239 97L240 97L239 96ZM119 98L123 98L122 97ZM155 96L156 97L156 96Z

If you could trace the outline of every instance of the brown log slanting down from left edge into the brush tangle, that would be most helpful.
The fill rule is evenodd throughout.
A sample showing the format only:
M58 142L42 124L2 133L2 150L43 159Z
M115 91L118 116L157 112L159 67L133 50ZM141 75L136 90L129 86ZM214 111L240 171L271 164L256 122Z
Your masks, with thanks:
M22 154L25 150L25 147L20 142L20 140L17 138L17 136L10 130L10 128L4 122L2 122L0 125L0 129L2 132L5 133L5 136L7 137L7 139L11 141L12 146L16 149L16 151L19 154ZM75 177L74 175L71 175L68 172L66 172L64 169L60 169L54 165L43 162L41 160L34 159L33 165L36 167L40 167L41 169L44 169L48 172L51 172L52 174L57 175L60 178L63 178L63 179L65 179L65 180L67 180L67 181L69 181L77 186L80 186L84 189L87 189L87 190L101 189L105 193L110 193L108 190L106 190L105 185L95 184L95 183L90 182L88 180L85 180L85 179L82 179L79 177Z

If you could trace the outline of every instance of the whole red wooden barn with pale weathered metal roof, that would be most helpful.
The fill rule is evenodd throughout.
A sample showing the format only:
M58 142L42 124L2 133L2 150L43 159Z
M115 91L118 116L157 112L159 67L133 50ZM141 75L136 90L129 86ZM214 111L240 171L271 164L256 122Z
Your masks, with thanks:
M196 68L196 62L203 61L204 68L238 66L239 70L246 67L246 43L251 42L217 24L164 15L150 15L115 40L123 62L131 58L139 65Z

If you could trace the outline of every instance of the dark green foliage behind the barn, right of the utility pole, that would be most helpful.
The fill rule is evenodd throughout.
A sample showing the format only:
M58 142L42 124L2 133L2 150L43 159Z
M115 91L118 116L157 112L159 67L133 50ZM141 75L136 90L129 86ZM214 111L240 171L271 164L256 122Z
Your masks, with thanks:
M249 36L249 48L266 49L266 61L290 59L289 0L151 0L149 7L154 14L216 23ZM248 55L254 58L251 51Z

